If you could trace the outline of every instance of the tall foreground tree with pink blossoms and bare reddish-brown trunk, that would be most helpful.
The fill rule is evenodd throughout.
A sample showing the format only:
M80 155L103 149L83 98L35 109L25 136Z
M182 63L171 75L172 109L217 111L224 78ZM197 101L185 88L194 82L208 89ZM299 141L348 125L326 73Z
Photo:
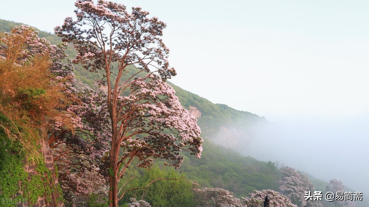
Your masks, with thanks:
M149 13L139 7L128 13L124 5L110 1L77 0L75 6L77 20L66 18L55 33L75 45L79 52L75 63L104 71L112 134L109 205L117 207L131 190L117 189L117 183L134 158L142 168L153 165L153 158L179 167L183 160L179 152L200 157L203 140L196 118L165 83L176 75L166 59L169 49L160 38L165 23L148 18ZM122 192L119 197L118 192Z

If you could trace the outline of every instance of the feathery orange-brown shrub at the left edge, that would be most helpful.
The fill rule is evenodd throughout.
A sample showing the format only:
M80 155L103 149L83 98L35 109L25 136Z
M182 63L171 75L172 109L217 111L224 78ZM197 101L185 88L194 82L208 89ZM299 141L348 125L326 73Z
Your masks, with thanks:
M73 129L72 114L64 111L71 98L62 93L63 79L58 80L49 72L48 55L19 61L27 46L27 32L5 36L0 37L0 42L7 46L6 59L0 60L0 116L5 116L0 117L0 127L35 155L34 143L45 138L51 123L58 121Z

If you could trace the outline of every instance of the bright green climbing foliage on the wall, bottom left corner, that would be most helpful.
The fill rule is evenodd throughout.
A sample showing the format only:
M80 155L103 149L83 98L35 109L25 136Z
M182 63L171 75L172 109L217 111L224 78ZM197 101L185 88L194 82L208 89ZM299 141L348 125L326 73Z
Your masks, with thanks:
M3 114L0 114L0 122L7 121ZM35 165L35 175L28 175L24 170L27 160L27 153L18 139L9 139L3 128L0 128L0 200L10 199L19 201L26 199L35 203L39 196L45 196L50 201L51 194L58 192L61 194L60 186L54 185L52 172L46 167L43 158L39 158ZM23 194L19 194L22 191ZM63 199L62 196L58 200ZM14 206L13 202L4 202L4 207Z

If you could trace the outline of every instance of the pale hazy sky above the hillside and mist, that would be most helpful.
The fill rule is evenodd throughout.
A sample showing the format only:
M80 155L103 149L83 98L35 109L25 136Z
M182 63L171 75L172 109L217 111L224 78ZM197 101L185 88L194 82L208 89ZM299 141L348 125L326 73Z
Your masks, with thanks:
M359 162L368 166L369 1L115 1L167 23L163 40L178 73L173 83L213 103L293 123L281 136L290 144L313 140L306 142L315 150L310 158L325 150L329 160L303 160L302 168L340 165L330 153L352 157L341 163L350 169L337 175L342 179L354 179ZM1 19L44 31L75 9L74 0L2 1L1 7ZM360 170L368 180L368 168ZM359 178L353 182L363 186Z

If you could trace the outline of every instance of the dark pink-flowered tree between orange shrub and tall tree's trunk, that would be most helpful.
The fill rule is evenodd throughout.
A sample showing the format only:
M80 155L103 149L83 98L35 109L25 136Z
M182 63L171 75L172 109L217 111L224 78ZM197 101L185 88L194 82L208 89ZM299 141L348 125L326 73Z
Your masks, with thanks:
M74 130L68 130L56 121L49 139L54 149L54 161L59 163L61 170L83 167L104 175L106 158L103 156L108 151L111 137L106 94L89 88L74 94L75 101L67 109L74 115Z

